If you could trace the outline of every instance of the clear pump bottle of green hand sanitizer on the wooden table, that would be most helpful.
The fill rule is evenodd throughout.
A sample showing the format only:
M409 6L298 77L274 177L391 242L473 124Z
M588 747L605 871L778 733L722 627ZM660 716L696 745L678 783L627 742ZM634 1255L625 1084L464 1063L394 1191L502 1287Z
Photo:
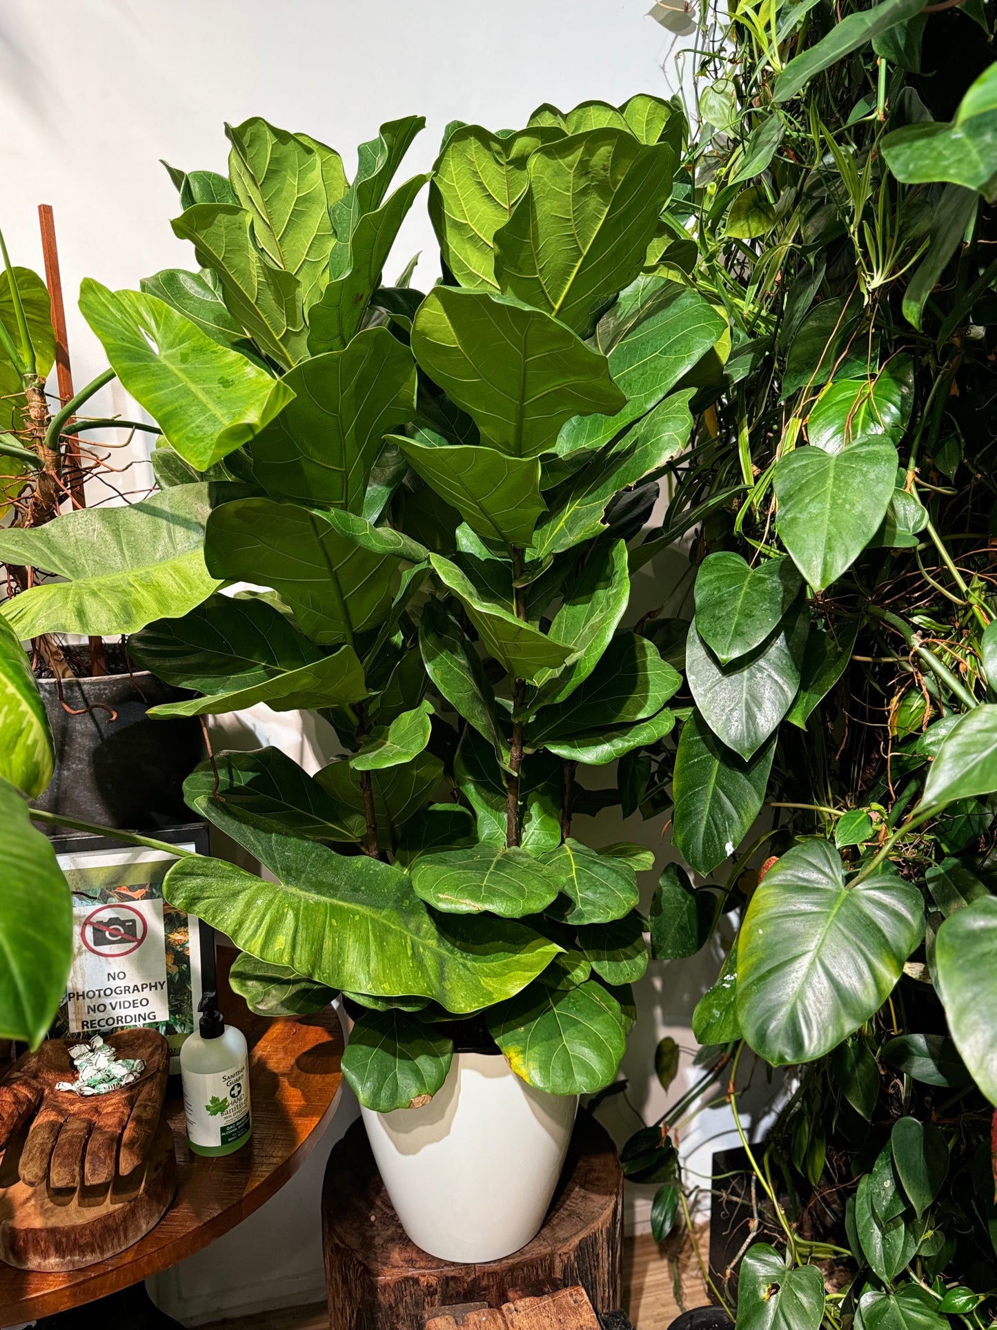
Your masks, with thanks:
M231 1154L253 1134L246 1036L225 1024L215 994L198 1011L199 1033L179 1051L187 1141L195 1154Z

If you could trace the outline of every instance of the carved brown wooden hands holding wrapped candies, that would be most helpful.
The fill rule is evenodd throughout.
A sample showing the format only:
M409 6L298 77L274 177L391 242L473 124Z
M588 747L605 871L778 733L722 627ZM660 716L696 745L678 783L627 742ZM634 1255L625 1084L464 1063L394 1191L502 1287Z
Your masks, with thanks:
M56 1089L57 1081L76 1080L69 1043L53 1039L25 1053L0 1084L0 1149L35 1113L20 1160L28 1186L45 1178L53 1188L102 1186L116 1172L126 1176L145 1158L160 1121L170 1065L162 1035L108 1035L118 1057L141 1057L145 1071L130 1085L82 1099Z

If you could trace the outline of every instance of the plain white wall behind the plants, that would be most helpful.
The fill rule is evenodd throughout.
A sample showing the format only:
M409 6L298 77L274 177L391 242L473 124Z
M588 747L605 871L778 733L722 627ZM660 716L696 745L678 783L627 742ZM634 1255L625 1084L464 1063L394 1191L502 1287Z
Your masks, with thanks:
M55 207L77 388L105 367L74 306L80 279L137 286L161 267L195 266L190 246L169 226L178 205L161 157L185 169L225 170L222 122L262 114L336 146L352 172L356 144L374 137L382 121L420 113L427 129L403 168L405 178L431 166L453 118L497 129L525 124L544 101L569 109L590 97L618 104L634 92L667 93L666 74L674 70L661 65L673 39L645 17L647 7L649 0L5 0L0 226L13 261L41 270L36 205ZM403 227L388 277L417 250L424 258L416 285L425 289L439 267L424 196ZM97 408L138 410L120 387L94 399ZM122 488L149 483L140 466ZM673 556L642 573L642 606L661 604L681 567ZM273 737L314 770L320 742L262 710L235 722L238 746ZM593 831L604 842L642 839L659 851L659 863L670 855L657 823L631 818L622 826L608 815ZM655 1043L671 1033L689 1051L675 1095L689 1084L691 1009L715 968L714 956L654 963L639 986L641 1024L623 1071L631 1103L649 1117L666 1101L651 1071ZM637 1125L622 1104L614 1112L623 1136ZM322 1168L352 1116L344 1100L298 1178L238 1230L157 1281L173 1314L207 1319L322 1297ZM690 1128L685 1149L695 1172L709 1172L711 1137L728 1137L730 1125L719 1111ZM646 1222L646 1197L635 1213Z

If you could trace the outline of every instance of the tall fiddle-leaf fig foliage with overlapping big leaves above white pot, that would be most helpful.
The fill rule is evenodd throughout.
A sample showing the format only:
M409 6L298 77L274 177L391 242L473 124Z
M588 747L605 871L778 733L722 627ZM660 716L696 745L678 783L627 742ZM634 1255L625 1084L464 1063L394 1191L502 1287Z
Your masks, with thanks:
M420 128L384 125L351 184L262 120L227 130L227 177L173 172L199 270L80 297L162 431L160 489L0 532L0 555L64 579L5 604L21 640L129 634L197 694L156 717L266 702L335 730L315 775L263 749L186 785L275 880L185 855L165 892L242 948L258 1009L363 1008L344 1071L379 1111L440 1088L445 1023L472 1013L532 1085L617 1073L653 855L589 846L574 819L615 799L584 767L675 720L630 547L727 330L646 279L683 234L675 106L451 125L431 180L389 193ZM384 287L427 181L444 282Z

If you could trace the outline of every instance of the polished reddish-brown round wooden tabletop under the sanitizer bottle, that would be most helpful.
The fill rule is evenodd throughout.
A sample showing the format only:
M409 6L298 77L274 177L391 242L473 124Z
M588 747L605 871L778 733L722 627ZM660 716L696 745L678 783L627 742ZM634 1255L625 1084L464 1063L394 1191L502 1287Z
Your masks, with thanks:
M0 1326L35 1321L117 1293L206 1248L269 1201L295 1173L331 1120L340 1085L343 1035L336 1012L269 1020L229 988L235 952L218 952L225 1019L250 1045L253 1136L221 1158L187 1146L179 1077L171 1077L165 1113L177 1150L177 1194L144 1238L106 1261L65 1274L16 1270L0 1261Z

